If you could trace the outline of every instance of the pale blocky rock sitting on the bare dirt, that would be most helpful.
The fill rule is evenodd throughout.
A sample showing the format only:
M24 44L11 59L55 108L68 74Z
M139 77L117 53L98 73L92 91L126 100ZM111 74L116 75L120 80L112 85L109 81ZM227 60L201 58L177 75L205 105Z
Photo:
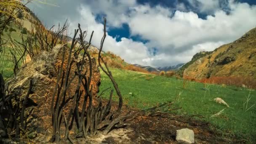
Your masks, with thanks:
M176 141L181 144L193 144L195 143L194 136L195 136L194 131L188 128L183 128L183 129L177 130Z

